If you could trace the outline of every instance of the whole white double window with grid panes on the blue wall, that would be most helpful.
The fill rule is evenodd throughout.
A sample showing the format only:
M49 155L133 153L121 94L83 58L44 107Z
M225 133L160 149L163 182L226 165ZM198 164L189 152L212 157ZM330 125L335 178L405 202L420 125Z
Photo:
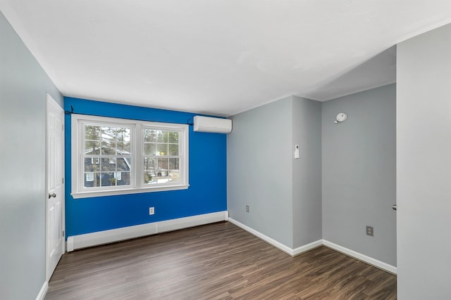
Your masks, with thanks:
M72 195L188 187L188 126L72 115Z

